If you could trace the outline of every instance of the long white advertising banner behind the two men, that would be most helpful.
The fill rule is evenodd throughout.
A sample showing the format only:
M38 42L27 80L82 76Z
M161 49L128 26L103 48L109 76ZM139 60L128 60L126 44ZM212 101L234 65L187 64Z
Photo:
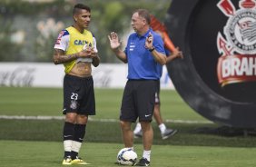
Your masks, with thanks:
M127 79L127 64L100 64L93 68L94 87L123 88ZM1 86L62 87L64 65L51 63L0 63ZM161 87L173 89L163 68Z

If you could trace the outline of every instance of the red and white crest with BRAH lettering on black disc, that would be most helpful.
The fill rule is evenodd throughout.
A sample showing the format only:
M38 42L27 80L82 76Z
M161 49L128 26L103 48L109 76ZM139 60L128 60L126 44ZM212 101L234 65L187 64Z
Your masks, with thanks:
M221 0L217 6L229 17L217 36L222 54L218 61L219 83L256 82L256 1L241 0L238 10L230 0Z

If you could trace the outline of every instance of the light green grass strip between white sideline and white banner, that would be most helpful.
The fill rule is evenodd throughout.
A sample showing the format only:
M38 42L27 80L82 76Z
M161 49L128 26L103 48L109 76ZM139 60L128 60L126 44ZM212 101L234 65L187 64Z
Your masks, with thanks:
M123 89L95 89L96 111L93 118L118 119ZM178 93L162 90L164 119L205 120L183 102ZM63 92L60 88L0 87L0 114L62 115Z

